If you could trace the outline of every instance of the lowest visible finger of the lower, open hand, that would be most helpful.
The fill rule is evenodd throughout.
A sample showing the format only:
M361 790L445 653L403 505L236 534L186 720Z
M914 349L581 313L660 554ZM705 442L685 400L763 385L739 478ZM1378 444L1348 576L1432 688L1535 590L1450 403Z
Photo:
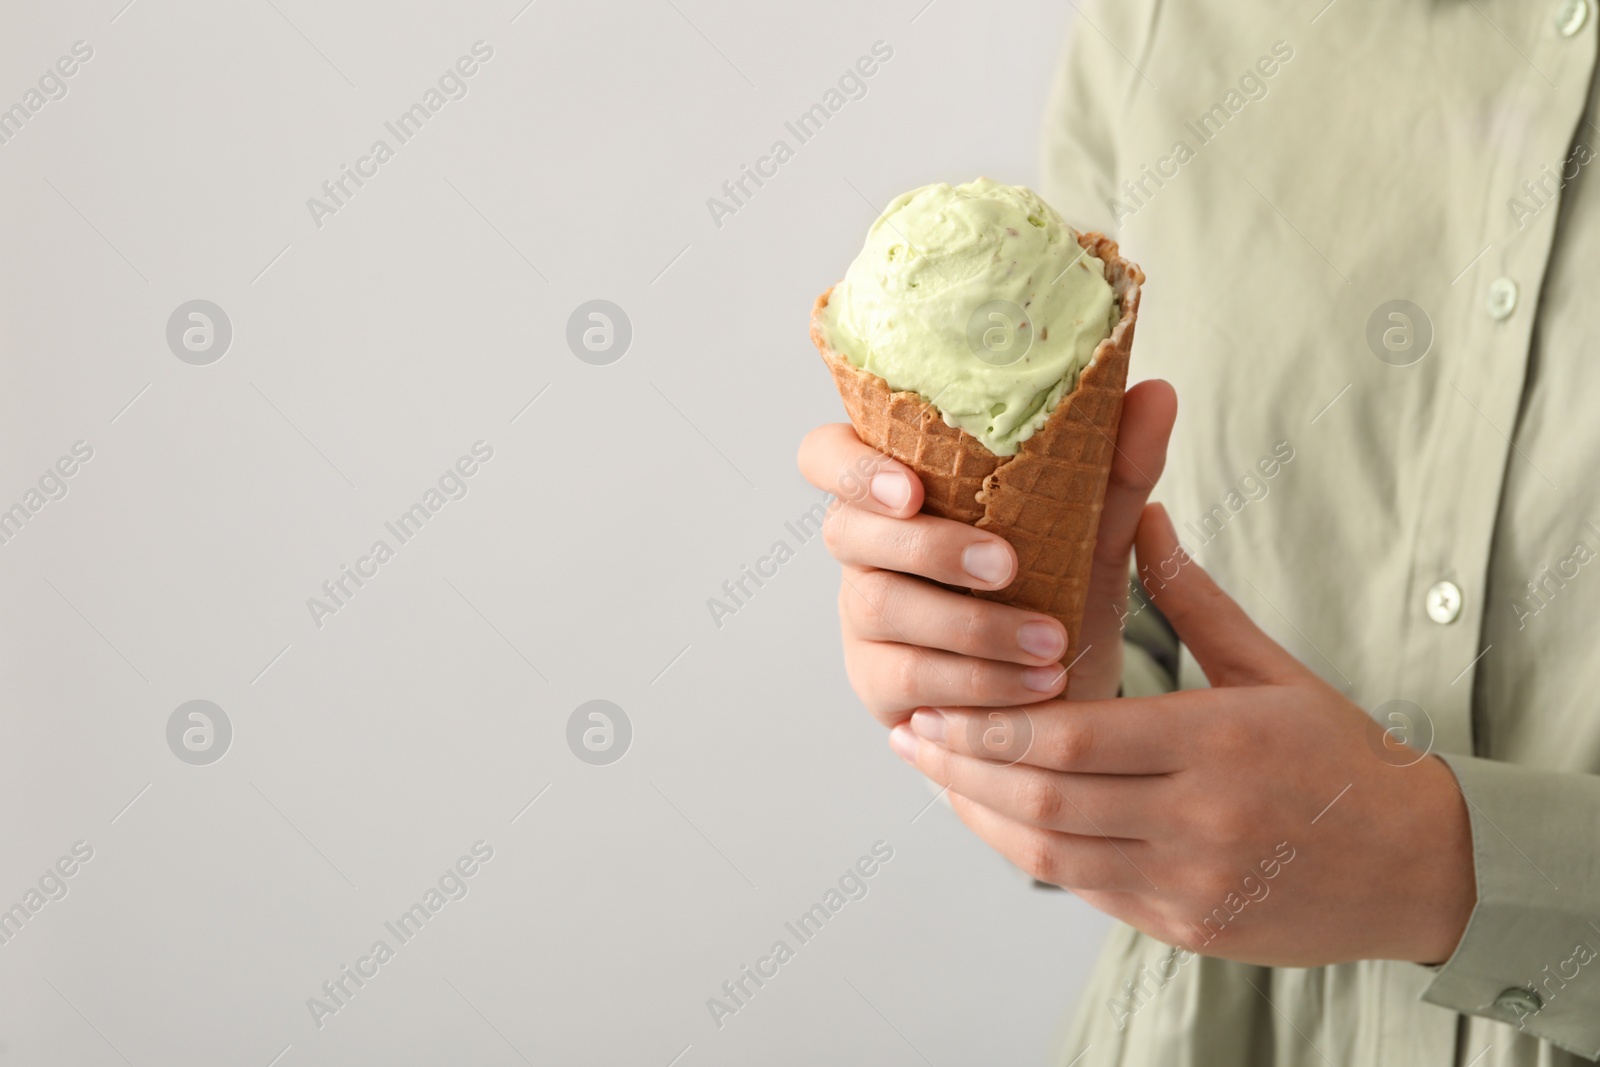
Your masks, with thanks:
M950 806L973 833L1040 881L1067 889L1150 891L1149 878L1139 872L1141 862L1149 862L1149 846L1142 841L1042 830L954 790Z

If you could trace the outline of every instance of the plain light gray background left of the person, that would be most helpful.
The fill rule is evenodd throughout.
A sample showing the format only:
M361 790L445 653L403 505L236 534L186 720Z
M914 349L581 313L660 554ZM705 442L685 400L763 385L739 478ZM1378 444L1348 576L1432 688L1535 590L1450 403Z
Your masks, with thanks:
M795 446L842 414L806 312L875 208L1035 178L1070 6L923 3L5 8L0 104L94 54L0 146L0 507L94 458L0 545L0 907L94 857L0 945L0 1064L1050 1054L1104 920L917 817L822 545L720 630L706 606L819 499ZM306 198L477 40L469 94L317 229ZM715 227L877 40L867 96ZM190 299L232 320L210 366L165 341ZM614 365L566 347L589 299L632 320ZM307 597L477 440L469 494L317 629ZM190 699L234 726L210 766L166 745ZM590 699L632 720L611 766L566 747ZM477 840L469 896L317 1029ZM870 894L715 1029L878 840Z

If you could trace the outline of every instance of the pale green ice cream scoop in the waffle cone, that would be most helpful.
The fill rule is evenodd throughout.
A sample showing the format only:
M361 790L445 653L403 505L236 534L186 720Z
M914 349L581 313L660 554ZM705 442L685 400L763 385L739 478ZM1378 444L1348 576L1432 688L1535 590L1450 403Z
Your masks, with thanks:
M835 352L1013 456L1075 389L1118 307L1106 264L1054 208L979 178L896 198L822 315Z

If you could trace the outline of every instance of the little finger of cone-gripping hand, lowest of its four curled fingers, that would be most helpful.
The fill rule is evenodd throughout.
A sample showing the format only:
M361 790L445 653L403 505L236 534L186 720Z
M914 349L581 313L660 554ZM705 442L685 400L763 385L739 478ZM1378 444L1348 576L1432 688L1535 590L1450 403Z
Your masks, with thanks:
M882 723L898 723L930 704L1010 707L1061 693L1066 672L994 659L957 656L934 648L850 640L845 670L867 710Z

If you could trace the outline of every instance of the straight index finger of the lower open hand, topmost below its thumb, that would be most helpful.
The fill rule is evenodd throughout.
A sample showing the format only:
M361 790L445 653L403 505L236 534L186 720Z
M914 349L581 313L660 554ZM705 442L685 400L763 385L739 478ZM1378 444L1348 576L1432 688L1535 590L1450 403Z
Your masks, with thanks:
M1195 715L1173 701L1042 701L1026 707L925 707L910 726L962 757L1070 774L1171 774L1192 763ZM1181 704L1181 701L1179 701Z

